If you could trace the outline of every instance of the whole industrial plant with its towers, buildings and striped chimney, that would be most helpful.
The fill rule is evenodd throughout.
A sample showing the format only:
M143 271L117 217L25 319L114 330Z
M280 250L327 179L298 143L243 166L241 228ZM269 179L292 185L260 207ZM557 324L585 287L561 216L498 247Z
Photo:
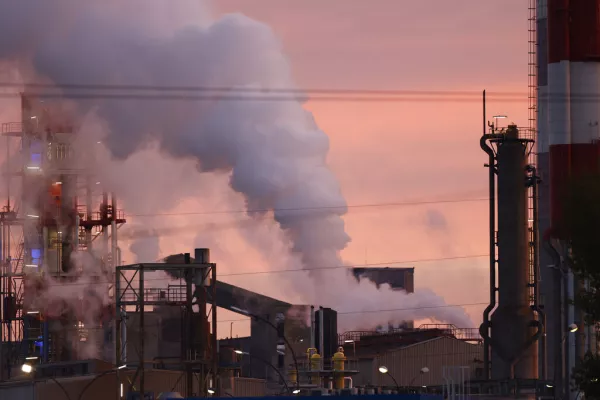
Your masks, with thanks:
M489 303L478 328L406 320L341 331L340 310L227 283L211 249L193 244L124 263L127 215L92 167L100 142L82 139L60 96L20 93L20 120L3 122L0 137L0 399L576 400L571 371L597 354L598 332L571 301L587 283L566 261L561 193L600 163L600 108L578 101L598 96L599 8L529 1L527 124L508 123L482 93ZM168 279L149 285L157 271ZM412 267L345 272L377 289L419 287ZM218 331L222 310L249 318L250 334Z

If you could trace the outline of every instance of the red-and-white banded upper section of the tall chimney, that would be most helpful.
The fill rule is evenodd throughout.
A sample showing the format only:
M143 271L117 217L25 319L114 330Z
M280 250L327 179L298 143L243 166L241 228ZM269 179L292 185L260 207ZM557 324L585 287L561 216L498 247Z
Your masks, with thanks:
M550 183L553 235L560 237L556 228L567 180L597 172L599 166L600 0L544 3L538 3L538 18L547 17L546 32L538 25L540 55L547 51L547 76L542 76L541 63L539 74L538 151L549 153L545 179Z

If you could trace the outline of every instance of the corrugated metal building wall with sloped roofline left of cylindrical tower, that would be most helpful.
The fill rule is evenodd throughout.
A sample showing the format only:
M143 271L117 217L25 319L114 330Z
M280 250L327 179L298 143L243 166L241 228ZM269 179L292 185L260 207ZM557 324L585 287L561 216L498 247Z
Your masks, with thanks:
M481 368L483 346L461 340L442 337L412 346L390 351L374 359L372 365L373 384L393 386L394 381L378 372L385 365L400 386L439 386L444 384L444 367L470 367L470 377L475 378ZM429 372L421 374L423 367Z

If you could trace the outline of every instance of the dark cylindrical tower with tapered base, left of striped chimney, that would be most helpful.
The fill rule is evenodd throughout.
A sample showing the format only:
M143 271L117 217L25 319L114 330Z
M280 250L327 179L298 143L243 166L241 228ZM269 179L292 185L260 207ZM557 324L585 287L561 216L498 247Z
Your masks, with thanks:
M527 143L509 126L497 146L499 293L491 317L492 378L536 379L537 347L528 346L535 331L529 307Z

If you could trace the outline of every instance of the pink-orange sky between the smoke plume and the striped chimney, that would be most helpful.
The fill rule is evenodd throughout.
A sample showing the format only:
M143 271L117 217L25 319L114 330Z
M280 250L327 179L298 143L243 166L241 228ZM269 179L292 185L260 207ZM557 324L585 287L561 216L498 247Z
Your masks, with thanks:
M303 88L528 90L528 10L520 0L215 3L269 24ZM331 138L329 163L351 205L486 196L479 102L307 107ZM490 102L488 110L527 124L526 103ZM486 254L486 205L350 210L344 256L375 263ZM447 225L428 227L428 213L440 213ZM450 304L488 298L486 258L410 265L417 287ZM482 309L467 308L476 323Z

